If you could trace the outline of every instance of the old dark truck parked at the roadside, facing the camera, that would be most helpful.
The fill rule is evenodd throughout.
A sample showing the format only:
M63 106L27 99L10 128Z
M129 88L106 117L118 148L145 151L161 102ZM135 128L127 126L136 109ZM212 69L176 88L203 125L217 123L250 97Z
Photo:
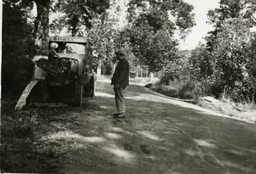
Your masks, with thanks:
M49 45L51 43L56 45L56 64L49 59L36 62L48 73L49 98L80 107L83 96L95 95L96 75L92 70L90 46L86 38L77 36L52 36Z

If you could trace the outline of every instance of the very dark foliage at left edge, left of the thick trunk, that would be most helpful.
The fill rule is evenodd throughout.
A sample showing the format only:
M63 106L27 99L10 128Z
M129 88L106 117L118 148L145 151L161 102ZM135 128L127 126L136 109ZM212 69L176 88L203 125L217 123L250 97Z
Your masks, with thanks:
M9 1L3 3L3 95L20 93L31 79L32 63L28 59L35 53L32 24L23 6ZM19 73L17 73L19 72Z

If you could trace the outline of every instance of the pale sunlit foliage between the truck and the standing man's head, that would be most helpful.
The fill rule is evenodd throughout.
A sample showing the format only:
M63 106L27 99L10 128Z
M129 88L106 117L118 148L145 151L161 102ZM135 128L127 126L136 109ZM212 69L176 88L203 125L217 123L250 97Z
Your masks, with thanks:
M117 14L119 14L119 11L117 11ZM105 65L106 69L113 66L114 52L119 48L123 49L126 59L130 62L130 65L133 65L136 58L131 52L131 43L127 39L127 32L116 27L119 21L118 17L111 16L106 12L96 15L90 21L92 26L87 33L95 57L93 59L94 65ZM111 70L107 71L107 74L110 75Z

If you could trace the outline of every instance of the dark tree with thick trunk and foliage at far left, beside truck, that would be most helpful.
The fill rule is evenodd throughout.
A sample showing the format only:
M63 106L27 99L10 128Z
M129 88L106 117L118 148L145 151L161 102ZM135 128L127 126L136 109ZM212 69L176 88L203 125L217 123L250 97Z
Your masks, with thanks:
M48 55L49 3L49 0L4 0L3 81L13 93L20 93L32 78L29 59L35 54ZM30 16L34 4L36 19Z

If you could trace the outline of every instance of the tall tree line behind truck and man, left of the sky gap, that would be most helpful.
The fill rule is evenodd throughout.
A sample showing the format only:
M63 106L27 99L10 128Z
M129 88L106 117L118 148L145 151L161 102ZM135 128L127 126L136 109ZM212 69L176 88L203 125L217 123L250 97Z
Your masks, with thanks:
M33 18L30 14L34 5L37 15ZM28 72L32 71L29 59L35 54L47 54L49 30L59 33L64 27L72 36L89 37L96 64L111 62L114 50L120 47L125 48L131 62L135 59L148 65L152 72L162 67L167 72L177 64L174 33L186 36L195 25L191 5L182 0L131 0L129 22L122 29L108 15L110 5L109 0L4 0L3 84L20 92L32 75ZM62 15L49 25L49 13ZM21 73L17 73L19 69Z

